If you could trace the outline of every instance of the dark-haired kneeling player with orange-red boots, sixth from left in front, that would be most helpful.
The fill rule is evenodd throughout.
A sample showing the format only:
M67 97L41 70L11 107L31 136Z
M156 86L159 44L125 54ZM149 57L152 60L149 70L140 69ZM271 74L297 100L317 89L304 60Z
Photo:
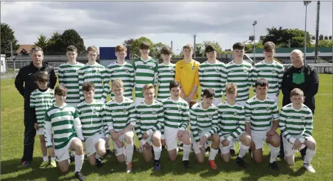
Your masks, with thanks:
M205 144L207 139L212 142L210 158L208 160L212 169L216 169L214 158L219 151L220 137L217 119L217 107L212 104L215 92L208 88L203 90L203 101L194 104L189 110L191 120L191 141L196 153L196 160L202 163L205 161Z

